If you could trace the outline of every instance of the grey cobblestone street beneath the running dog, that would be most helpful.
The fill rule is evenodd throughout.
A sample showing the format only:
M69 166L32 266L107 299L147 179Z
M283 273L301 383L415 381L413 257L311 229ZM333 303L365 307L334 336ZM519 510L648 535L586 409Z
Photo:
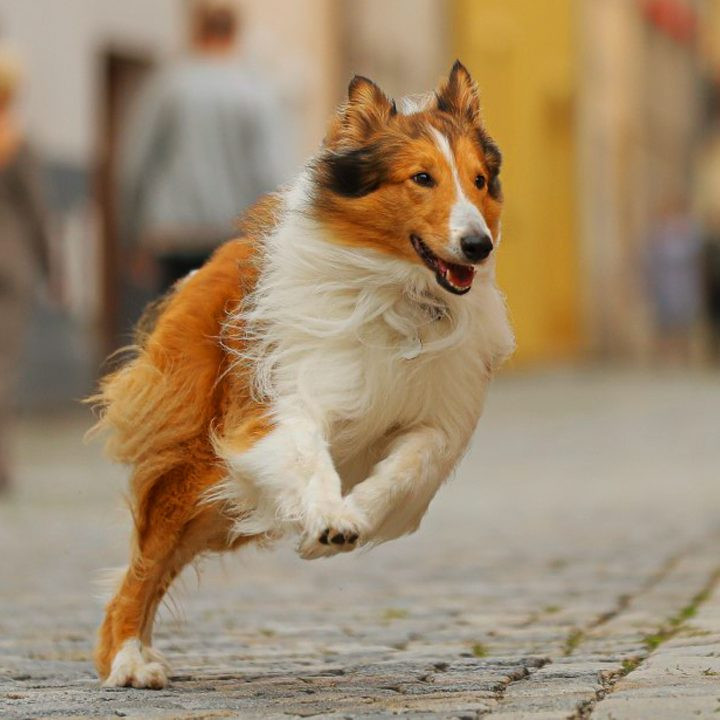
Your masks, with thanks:
M190 570L161 691L101 689L124 471L25 420L0 501L0 718L684 720L720 712L720 382L507 375L414 536Z

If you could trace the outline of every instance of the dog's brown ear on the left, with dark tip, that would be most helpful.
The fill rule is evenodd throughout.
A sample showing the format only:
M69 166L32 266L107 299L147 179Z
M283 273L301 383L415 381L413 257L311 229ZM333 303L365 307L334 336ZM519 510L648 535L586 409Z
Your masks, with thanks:
M328 144L339 140L362 144L396 114L394 100L372 80L355 75L348 86L347 102L338 109L325 141Z

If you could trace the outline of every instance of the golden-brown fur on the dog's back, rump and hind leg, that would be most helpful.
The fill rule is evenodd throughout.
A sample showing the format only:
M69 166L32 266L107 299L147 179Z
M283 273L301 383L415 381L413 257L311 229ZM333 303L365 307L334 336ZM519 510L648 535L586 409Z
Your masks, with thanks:
M102 413L94 432L112 430L108 454L133 468L132 557L101 628L95 655L101 677L127 638L150 644L155 609L186 563L239 544L230 540L232 518L201 502L222 477L209 431L226 412L243 416L250 437L266 432L267 423L242 376L225 373L218 340L226 313L254 286L254 254L275 206L272 197L261 201L243 228L256 236L221 247L163 299L154 321L146 316L136 357L104 378L91 398Z

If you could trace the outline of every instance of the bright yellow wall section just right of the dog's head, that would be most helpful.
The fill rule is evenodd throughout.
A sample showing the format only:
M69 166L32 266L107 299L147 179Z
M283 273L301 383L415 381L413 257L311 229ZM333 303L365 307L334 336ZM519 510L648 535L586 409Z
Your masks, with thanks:
M504 155L498 278L519 363L579 348L573 0L454 0L452 40Z

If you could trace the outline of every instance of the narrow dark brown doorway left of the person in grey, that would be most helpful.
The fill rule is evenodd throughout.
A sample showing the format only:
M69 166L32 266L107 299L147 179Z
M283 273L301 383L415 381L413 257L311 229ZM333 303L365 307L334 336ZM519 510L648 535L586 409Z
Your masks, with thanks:
M127 343L125 337L145 298L128 292L117 217L117 153L128 109L154 67L147 54L108 48L100 54L101 108L97 197L100 212L102 300L100 335L105 355ZM138 307L136 308L135 305Z

